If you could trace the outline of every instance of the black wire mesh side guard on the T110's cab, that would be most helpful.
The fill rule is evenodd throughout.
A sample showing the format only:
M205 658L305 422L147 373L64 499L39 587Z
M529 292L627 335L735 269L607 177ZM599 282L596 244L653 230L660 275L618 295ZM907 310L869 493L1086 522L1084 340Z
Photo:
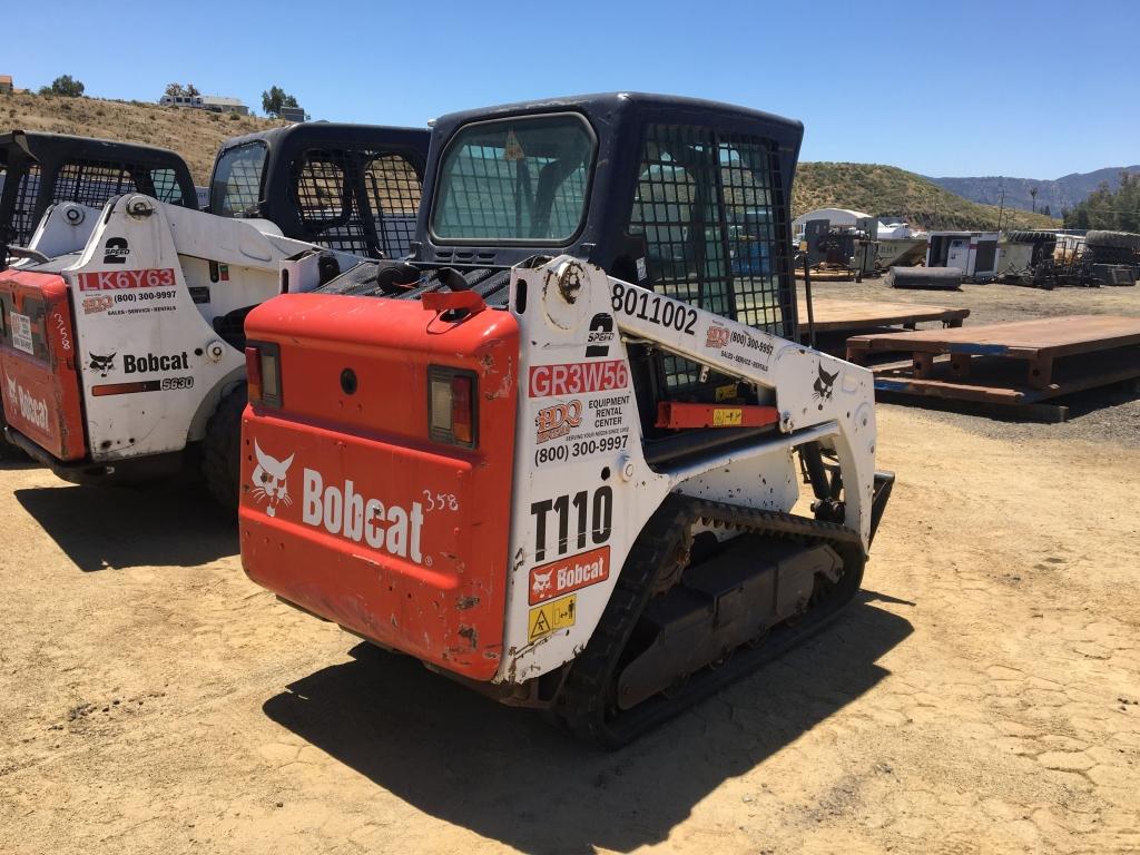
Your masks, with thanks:
M780 163L759 138L687 125L650 125L629 218L646 245L654 291L788 336L795 319L781 237L787 231ZM670 389L699 383L701 368L662 360Z

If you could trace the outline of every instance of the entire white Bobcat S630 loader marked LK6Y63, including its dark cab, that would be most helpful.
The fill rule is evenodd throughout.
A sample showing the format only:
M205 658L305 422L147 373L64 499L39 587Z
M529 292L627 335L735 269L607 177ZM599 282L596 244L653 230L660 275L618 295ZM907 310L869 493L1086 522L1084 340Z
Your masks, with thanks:
M214 213L142 194L48 206L0 270L7 440L87 483L193 470L201 453L236 511L245 315L406 253L426 152L426 131L299 124L222 146Z

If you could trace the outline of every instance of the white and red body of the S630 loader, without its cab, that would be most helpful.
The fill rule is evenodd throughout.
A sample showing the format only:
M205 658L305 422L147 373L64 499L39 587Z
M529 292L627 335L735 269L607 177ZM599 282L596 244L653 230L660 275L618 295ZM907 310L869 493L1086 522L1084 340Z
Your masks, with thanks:
M245 314L359 262L140 194L108 202L78 255L0 271L8 440L79 483L169 475L203 443L236 504Z

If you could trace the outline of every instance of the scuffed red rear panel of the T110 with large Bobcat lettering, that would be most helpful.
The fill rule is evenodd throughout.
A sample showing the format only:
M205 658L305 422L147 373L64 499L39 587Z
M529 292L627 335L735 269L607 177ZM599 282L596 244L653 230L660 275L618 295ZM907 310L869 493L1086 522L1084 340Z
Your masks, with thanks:
M447 323L414 301L288 294L245 328L279 345L283 400L243 418L246 573L367 638L490 679L510 570L514 318ZM477 448L429 439L430 366L473 374Z

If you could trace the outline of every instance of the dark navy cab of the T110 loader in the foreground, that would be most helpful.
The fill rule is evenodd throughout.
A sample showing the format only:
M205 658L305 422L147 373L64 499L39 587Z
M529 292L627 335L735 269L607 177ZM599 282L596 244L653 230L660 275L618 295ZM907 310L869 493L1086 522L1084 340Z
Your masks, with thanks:
M766 113L640 93L445 116L414 258L478 269L568 253L795 341L789 207L801 136L799 122ZM630 357L646 437L662 400L756 402L686 359Z

